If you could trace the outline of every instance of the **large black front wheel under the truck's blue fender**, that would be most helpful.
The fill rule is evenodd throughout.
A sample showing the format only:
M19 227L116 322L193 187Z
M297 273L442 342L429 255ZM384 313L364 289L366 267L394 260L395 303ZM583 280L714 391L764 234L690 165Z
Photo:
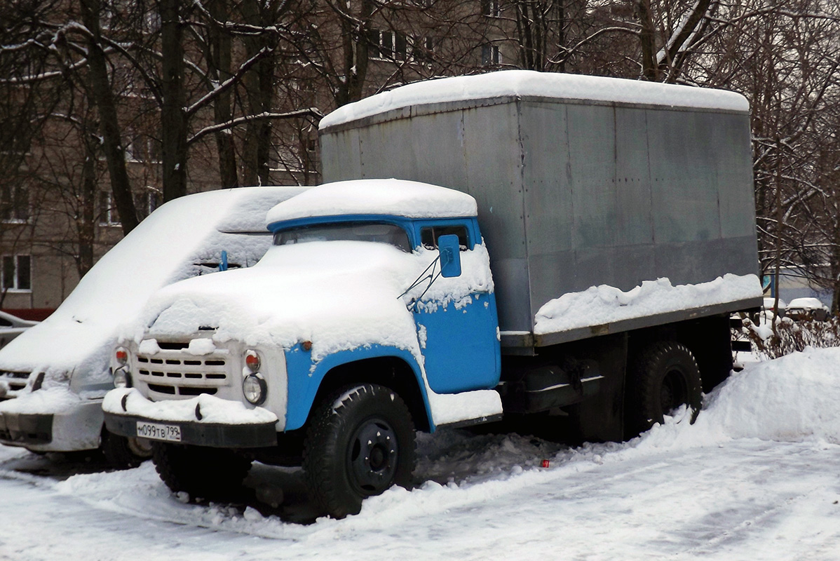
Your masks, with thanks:
M312 499L334 518L358 514L362 501L412 482L414 424L405 402L382 385L345 387L312 414L303 470Z

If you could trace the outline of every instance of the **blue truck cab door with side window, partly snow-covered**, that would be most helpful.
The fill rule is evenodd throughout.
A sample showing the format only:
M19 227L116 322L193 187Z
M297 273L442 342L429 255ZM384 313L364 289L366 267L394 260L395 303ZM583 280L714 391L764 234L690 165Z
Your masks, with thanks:
M438 237L456 234L462 258L475 250L465 226L429 226L420 230L425 249L438 249ZM475 260L462 259L462 267ZM486 266L486 265L482 265ZM468 274L464 270L462 274ZM438 279L438 282L441 280ZM490 389L499 382L500 351L497 338L496 298L475 291L459 301L423 298L414 310L428 385L436 393Z

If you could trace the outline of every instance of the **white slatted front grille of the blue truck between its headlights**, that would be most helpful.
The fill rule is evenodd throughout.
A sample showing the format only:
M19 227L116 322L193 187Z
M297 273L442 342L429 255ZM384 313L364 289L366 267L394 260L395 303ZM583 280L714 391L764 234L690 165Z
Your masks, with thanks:
M194 356L186 354L188 344L160 344L160 352L137 354L137 378L149 387L149 391L161 396L192 397L201 394L215 394L219 388L228 385L228 356L209 354Z

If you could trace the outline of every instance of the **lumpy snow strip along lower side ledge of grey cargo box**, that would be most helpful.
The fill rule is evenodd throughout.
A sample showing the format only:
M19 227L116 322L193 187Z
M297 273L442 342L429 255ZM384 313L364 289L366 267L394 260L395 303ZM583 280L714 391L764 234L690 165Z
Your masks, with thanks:
M756 275L723 275L697 285L672 286L668 279L643 281L624 292L614 286L591 286L548 301L534 317L534 333L554 333L634 317L688 310L728 301L760 298Z

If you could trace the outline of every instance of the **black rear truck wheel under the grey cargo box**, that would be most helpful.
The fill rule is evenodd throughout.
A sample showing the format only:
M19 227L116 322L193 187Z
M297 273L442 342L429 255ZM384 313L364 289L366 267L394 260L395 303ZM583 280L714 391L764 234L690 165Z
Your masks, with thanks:
M692 410L694 422L702 406L702 380L691 351L676 341L659 341L638 354L627 377L628 437L637 436L680 405Z

